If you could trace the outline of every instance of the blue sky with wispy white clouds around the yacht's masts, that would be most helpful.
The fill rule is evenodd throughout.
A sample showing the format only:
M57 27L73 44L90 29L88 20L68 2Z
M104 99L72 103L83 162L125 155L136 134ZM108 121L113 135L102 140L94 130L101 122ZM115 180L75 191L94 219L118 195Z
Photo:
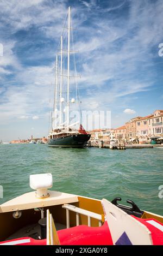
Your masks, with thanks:
M163 109L161 0L1 0L0 140L47 136L49 87L69 5L83 109L111 110L113 128Z

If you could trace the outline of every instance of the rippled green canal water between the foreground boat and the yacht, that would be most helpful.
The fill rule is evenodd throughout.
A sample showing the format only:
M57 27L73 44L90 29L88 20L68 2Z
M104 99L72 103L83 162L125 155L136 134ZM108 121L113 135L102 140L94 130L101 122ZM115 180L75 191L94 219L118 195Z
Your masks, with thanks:
M133 200L141 209L163 215L163 147L128 150L0 145L1 203L32 189L29 175L51 172L53 189L112 200Z

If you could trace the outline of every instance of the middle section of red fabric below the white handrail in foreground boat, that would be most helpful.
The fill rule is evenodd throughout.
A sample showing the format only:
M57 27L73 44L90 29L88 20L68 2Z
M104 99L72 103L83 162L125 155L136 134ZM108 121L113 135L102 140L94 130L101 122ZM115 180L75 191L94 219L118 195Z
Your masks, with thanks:
M108 223L102 227L77 227L57 231L61 245L113 245Z

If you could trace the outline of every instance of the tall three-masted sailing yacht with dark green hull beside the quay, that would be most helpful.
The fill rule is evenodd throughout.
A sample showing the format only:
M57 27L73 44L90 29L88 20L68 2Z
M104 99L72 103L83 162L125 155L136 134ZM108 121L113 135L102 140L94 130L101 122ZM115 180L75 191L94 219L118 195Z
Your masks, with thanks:
M72 41L70 41L70 38ZM70 49L70 46L72 49ZM52 128L48 134L48 146L85 147L91 135L86 133L81 124L82 111L78 95L79 91L74 57L74 53L76 51L73 50L70 7L68 8L58 48L59 52L57 53L55 61L55 90L52 112ZM70 98L70 94L73 93L75 94L75 97ZM75 105L78 105L78 111L74 107ZM70 118L70 107L72 107L74 111L73 116L74 114L77 114L78 119L73 123L71 123L72 120ZM73 118L73 120L74 119L75 118ZM77 126L79 128L77 128Z

